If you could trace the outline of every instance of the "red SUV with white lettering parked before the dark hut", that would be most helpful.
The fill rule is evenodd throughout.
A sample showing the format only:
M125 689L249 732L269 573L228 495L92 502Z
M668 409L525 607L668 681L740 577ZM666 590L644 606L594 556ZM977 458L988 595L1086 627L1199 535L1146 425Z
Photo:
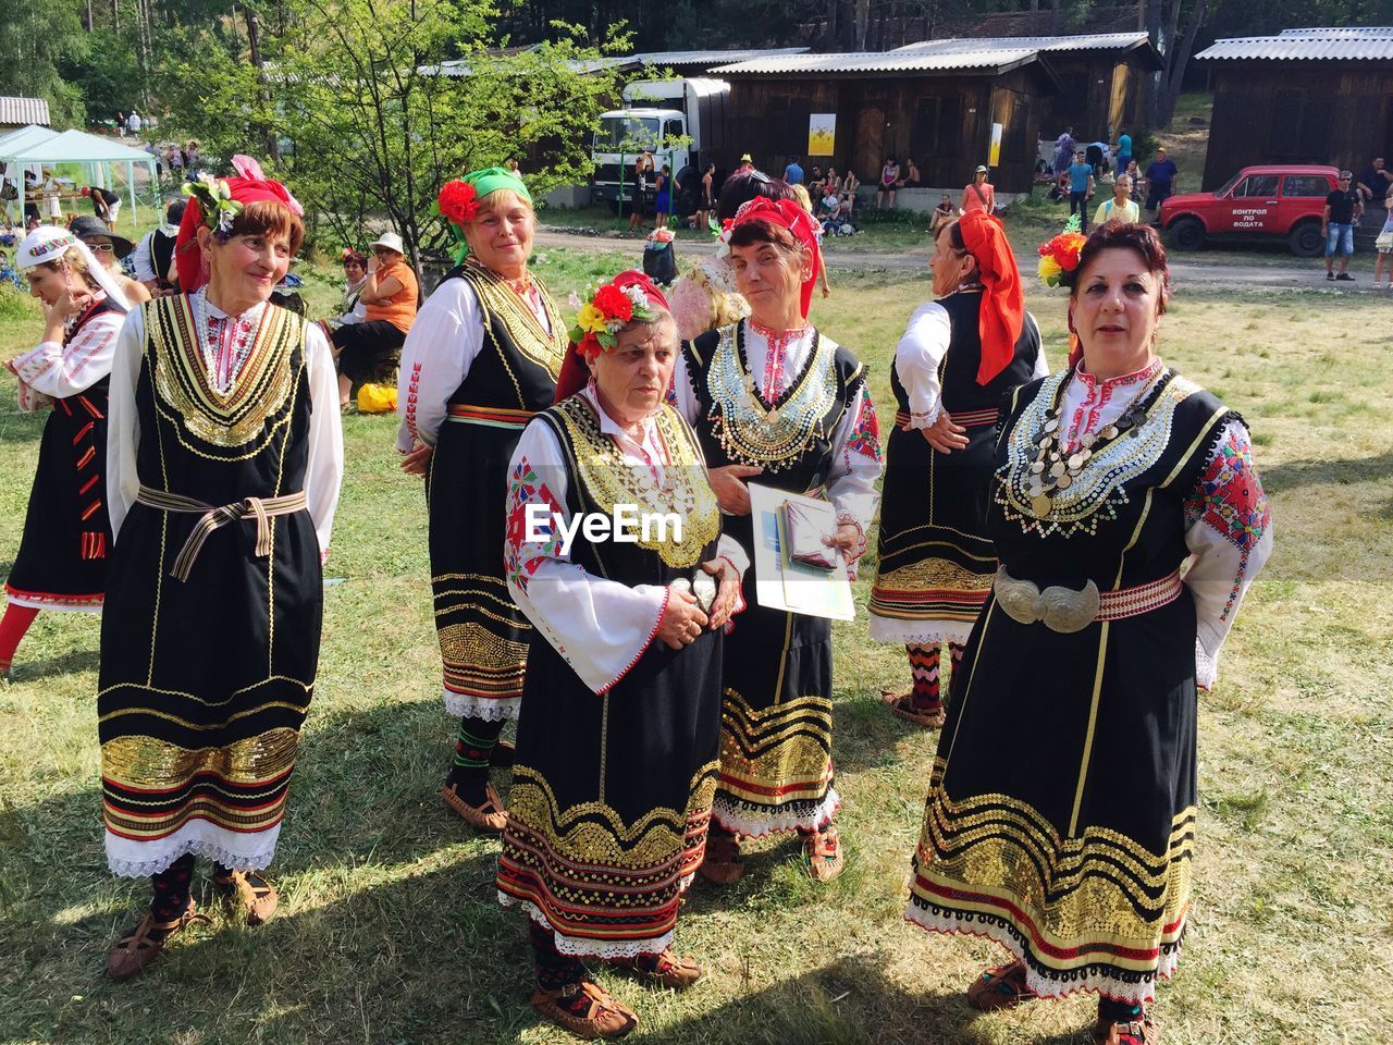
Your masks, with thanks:
M1284 235L1298 258L1325 252L1321 215L1336 189L1334 167L1269 163L1244 167L1217 192L1185 192L1160 205L1160 227L1183 251L1209 235Z

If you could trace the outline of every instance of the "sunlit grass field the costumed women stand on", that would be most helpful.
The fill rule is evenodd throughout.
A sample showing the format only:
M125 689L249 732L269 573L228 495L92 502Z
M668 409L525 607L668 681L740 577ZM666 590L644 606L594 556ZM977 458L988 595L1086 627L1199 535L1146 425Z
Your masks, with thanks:
M603 274L549 251L564 298ZM814 319L887 364L925 279L843 276ZM311 281L327 305L332 288ZM1031 291L1052 362L1061 294ZM1241 410L1273 496L1277 553L1244 605L1219 687L1201 697L1201 822L1187 950L1156 1016L1187 1045L1375 1039L1393 977L1393 347L1389 307L1316 294L1190 295L1163 355ZM0 358L38 319L0 300ZM1379 334L1378 332L1385 332ZM18 545L42 418L0 379L0 573ZM1382 418L1382 419L1380 419ZM245 929L210 901L149 975L104 977L146 899L102 856L93 692L98 621L40 614L0 687L0 1041L553 1042L527 1005L521 915L500 911L497 843L436 798L451 723L439 702L419 486L396 421L344 422L347 478L326 591L319 686L273 868L277 917ZM864 595L864 592L862 592ZM1091 1002L979 1016L963 988L989 945L901 921L935 736L879 705L903 653L839 626L840 815L830 886L770 847L727 893L698 885L680 946L710 970L684 995L605 974L635 1041L673 1045L1082 1042ZM1048 694L1045 694L1048 698ZM1003 723L1002 757L1028 744ZM1127 772L1117 752L1116 772Z

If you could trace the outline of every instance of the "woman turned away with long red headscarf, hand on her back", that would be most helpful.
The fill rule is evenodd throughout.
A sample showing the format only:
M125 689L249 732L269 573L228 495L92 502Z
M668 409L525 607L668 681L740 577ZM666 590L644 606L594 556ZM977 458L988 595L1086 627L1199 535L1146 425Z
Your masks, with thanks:
M914 687L887 694L894 713L936 727L943 647L956 667L996 573L986 502L997 407L1049 368L999 219L970 210L944 226L929 263L939 300L910 316L890 369L898 410L886 447L871 638L910 655Z

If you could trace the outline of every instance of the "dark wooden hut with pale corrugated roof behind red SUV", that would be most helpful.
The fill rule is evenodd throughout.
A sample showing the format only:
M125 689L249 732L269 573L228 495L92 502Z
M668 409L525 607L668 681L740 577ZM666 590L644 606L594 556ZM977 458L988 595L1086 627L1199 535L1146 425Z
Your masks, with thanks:
M1195 56L1215 93L1204 188L1250 163L1393 162L1393 26L1287 29Z

